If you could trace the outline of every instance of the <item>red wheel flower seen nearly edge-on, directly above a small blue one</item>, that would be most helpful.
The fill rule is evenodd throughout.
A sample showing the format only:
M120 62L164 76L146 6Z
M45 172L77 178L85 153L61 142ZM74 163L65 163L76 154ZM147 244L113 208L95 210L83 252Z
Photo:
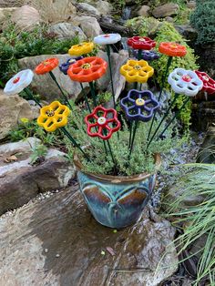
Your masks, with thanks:
M132 36L128 38L128 46L138 50L150 50L156 46L156 42L147 36Z

